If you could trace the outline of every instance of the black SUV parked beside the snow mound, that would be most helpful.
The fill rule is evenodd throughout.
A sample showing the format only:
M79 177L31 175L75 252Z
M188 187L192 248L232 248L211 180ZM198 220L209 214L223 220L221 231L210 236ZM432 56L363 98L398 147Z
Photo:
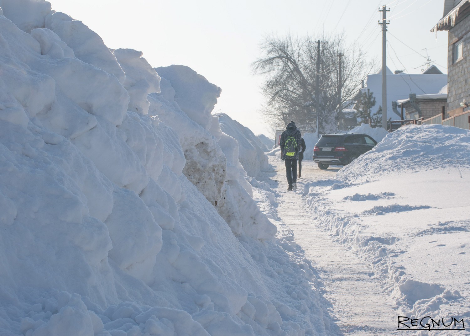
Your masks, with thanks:
M313 161L318 163L320 169L330 165L345 166L376 144L374 139L364 133L324 134L313 148Z

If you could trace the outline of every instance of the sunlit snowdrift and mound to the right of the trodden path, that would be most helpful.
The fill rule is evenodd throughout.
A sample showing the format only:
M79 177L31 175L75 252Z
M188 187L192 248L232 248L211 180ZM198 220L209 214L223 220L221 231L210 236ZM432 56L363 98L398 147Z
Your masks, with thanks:
M402 316L470 317L470 131L407 126L306 184L316 222L384 282Z

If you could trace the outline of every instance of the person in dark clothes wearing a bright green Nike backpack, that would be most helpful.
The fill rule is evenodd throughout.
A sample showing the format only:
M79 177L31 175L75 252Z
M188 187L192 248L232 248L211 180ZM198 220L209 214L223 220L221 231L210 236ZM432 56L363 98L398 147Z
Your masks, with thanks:
M295 126L295 122L291 121L286 130L282 132L279 141L281 159L286 165L287 183L289 184L287 190L297 189L297 160L301 139L302 136L297 126Z

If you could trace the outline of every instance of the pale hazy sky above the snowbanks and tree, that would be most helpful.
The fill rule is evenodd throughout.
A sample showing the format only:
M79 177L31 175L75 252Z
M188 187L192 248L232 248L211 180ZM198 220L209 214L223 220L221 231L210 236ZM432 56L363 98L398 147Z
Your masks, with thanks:
M222 88L215 112L255 134L274 134L258 114L263 103L251 63L263 37L345 31L381 62L378 8L391 11L387 65L420 73L429 55L447 73L447 33L431 33L444 0L49 0L52 9L83 21L109 48L133 48L153 66L187 65ZM426 50L423 50L427 48ZM358 79L360 80L360 79Z

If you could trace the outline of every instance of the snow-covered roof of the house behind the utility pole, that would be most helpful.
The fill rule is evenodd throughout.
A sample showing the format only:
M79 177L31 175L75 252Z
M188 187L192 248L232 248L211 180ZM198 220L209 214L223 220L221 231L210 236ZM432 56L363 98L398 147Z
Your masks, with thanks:
M410 94L416 96L437 94L446 84L447 75L434 65L419 74L408 74L401 71L393 73L387 68L387 119L401 119L401 111L392 106L392 102L405 99ZM376 97L376 105L372 109L373 114L382 105L382 71L367 76L366 88L363 90L367 89L373 92Z

